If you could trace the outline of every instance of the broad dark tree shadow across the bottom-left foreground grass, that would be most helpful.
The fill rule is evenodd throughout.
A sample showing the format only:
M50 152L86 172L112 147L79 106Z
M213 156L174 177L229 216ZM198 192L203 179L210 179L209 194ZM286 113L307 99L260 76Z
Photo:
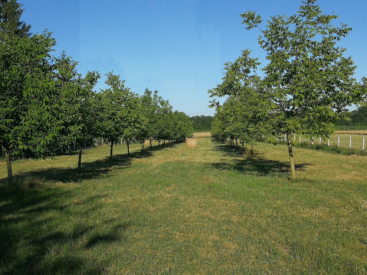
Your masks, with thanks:
M110 263L85 252L123 241L130 222L101 215L105 195L78 197L61 186L1 193L0 274L105 273Z

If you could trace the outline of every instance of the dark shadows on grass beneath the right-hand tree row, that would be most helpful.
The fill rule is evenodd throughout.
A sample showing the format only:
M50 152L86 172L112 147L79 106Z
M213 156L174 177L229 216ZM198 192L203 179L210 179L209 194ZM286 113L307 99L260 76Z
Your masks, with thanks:
M234 158L232 162L217 162L211 166L221 170L237 170L246 175L255 176L279 176L284 177L290 174L289 162L281 162L276 160L265 159L264 154L255 150L254 156L249 156L247 148L229 146L217 142L214 147L215 151L221 152L226 157ZM245 158L245 156L247 157ZM302 170L310 164L295 165L296 171Z

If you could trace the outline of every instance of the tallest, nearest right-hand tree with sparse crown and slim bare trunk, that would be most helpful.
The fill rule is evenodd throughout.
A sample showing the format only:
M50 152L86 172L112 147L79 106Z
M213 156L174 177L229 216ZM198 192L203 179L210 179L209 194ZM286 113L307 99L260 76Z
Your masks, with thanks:
M269 60L262 69L261 94L273 130L288 136L292 180L292 135L326 138L346 107L366 100L366 78L356 82L352 58L344 57L346 49L336 45L351 29L344 24L331 25L338 17L323 14L315 2L302 1L298 13L290 17L271 17L264 30L255 12L241 14L246 29L258 27L261 31L258 41Z

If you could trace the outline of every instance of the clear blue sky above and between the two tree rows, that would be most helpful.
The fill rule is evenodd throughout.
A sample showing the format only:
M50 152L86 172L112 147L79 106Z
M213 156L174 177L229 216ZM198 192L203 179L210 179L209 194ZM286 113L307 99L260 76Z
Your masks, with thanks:
M33 33L45 29L56 38L55 55L65 49L79 61L78 72L97 70L97 90L106 88L104 74L113 70L126 86L142 94L158 90L174 109L192 115L213 115L207 90L221 83L223 65L249 48L265 63L257 30L247 31L239 14L297 12L298 0L258 1L99 1L18 0L22 20ZM324 13L335 12L334 25L352 32L339 45L353 56L359 80L367 76L367 1L320 0Z

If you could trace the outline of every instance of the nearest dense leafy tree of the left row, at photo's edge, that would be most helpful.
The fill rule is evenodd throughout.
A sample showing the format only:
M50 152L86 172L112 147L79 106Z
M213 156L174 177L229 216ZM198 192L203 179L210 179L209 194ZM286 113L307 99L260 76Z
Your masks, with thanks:
M8 177L11 161L26 150L52 156L63 118L55 116L62 101L55 89L50 33L32 37L4 34L0 43L0 144L5 148Z

